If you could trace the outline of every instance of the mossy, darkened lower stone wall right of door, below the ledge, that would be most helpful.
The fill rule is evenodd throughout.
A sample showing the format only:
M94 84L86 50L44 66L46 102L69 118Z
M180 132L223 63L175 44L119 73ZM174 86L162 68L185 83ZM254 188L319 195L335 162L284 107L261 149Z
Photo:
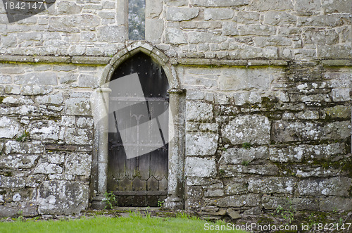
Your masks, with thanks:
M187 209L352 210L351 67L183 69Z

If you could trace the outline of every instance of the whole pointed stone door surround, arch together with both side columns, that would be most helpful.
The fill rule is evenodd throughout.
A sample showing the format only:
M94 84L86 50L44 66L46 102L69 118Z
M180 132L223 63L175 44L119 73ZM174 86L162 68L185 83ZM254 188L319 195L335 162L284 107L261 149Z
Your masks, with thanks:
M169 181L168 181L168 198L165 206L173 209L184 208L184 103L185 92L180 89L180 81L177 72L170 63L170 59L162 51L156 49L146 42L135 42L122 49L111 58L99 80L101 88L96 89L96 96L92 101L94 119L102 119L108 115L106 103L108 103L108 93L111 89L104 86L113 77L113 73L128 58L137 53L145 53L154 61L161 65L166 77L168 78L168 90L170 96L169 109L169 134L175 135L169 141L168 164L169 164ZM103 98L101 98L101 96ZM92 177L91 177L91 201L92 208L103 208L103 194L107 190L107 172L108 172L108 120L94 120L94 146L92 160ZM172 127L170 127L172 125Z

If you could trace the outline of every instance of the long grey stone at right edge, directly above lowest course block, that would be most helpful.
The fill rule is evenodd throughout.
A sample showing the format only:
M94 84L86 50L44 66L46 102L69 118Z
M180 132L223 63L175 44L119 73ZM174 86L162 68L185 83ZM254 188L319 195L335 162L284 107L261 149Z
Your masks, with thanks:
M349 196L352 179L333 177L329 179L302 180L298 183L300 195Z

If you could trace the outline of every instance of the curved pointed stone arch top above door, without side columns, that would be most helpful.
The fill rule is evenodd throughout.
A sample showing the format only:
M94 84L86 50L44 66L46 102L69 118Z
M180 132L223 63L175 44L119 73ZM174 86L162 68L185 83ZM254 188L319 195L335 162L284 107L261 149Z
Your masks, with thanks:
M177 77L177 73L175 68L170 65L168 56L165 55L160 49L157 49L151 44L146 42L134 42L127 46L125 49L120 50L115 54L106 65L106 68L103 72L103 79L101 80L101 84L105 84L111 81L111 77L113 77L113 73L115 69L118 68L123 62L125 62L128 58L131 58L136 53L145 53L150 56L154 61L161 65L163 68L166 77L168 78L170 89L180 89L180 82Z

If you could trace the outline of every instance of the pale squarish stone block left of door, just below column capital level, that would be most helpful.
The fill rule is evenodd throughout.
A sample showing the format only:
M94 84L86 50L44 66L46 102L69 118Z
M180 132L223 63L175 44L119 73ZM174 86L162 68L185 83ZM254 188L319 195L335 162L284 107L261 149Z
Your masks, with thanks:
M65 101L65 112L68 115L91 115L89 99L70 98Z

